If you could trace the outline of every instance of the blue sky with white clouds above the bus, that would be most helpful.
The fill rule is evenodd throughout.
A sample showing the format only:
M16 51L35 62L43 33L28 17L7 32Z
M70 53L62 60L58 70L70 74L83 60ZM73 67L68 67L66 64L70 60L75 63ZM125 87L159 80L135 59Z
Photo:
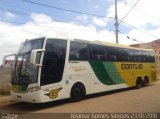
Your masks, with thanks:
M119 44L160 38L160 0L117 1ZM25 39L54 32L115 43L114 17L115 0L0 0L0 64L5 55L17 52Z

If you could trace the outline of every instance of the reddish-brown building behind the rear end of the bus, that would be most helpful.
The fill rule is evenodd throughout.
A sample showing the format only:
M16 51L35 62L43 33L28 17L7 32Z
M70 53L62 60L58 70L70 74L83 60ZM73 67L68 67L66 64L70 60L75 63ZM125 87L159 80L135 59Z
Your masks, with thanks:
M148 42L148 43L134 44L134 45L130 45L130 46L131 47L138 47L138 48L153 49L155 51L158 78L160 78L160 39L154 40L154 41Z

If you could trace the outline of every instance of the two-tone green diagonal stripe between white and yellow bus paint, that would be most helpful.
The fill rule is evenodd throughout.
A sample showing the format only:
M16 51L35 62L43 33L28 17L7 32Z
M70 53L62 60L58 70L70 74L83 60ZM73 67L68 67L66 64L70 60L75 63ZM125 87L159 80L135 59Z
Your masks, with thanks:
M97 78L106 85L123 83L123 79L117 73L115 65L111 62L89 62Z

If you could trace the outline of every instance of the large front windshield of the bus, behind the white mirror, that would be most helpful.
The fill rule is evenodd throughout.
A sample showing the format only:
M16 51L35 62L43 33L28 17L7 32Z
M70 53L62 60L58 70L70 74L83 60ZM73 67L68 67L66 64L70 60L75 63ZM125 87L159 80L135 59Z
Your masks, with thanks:
M11 83L27 85L37 82L38 66L30 64L30 54L33 49L41 49L44 38L31 40L21 44L15 57Z

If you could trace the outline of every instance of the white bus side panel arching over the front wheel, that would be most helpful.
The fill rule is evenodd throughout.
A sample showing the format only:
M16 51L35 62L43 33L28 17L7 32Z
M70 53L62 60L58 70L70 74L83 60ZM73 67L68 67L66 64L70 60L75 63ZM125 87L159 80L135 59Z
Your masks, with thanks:
M90 82L93 80L93 75L88 62L70 61L67 64L66 71L69 81L69 93L72 86L80 82L85 86L86 94L90 94Z

